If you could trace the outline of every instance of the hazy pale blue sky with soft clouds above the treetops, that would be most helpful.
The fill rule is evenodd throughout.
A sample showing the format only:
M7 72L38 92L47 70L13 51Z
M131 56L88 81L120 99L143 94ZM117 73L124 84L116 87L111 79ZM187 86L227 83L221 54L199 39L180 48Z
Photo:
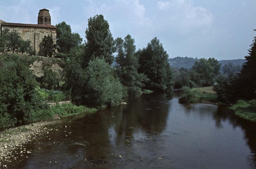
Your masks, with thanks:
M44 7L84 40L88 18L102 14L114 39L130 34L142 49L157 37L170 58L244 59L256 36L256 0L0 0L0 19L37 24Z

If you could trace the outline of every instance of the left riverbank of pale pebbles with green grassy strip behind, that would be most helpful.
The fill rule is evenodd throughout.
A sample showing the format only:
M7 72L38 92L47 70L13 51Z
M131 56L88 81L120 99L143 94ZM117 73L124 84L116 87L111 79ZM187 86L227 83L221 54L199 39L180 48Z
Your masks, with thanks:
M34 116L34 119L56 120L31 123L0 132L0 168L1 163L11 162L9 159L14 157L15 154L25 156L30 153L31 150L23 149L24 144L31 142L36 137L42 137L42 135L48 134L50 130L54 130L49 129L49 125L53 123L58 123L61 117L72 116L82 113L90 114L95 112L96 110L97 109L95 108L76 106L72 103L57 103L56 105L48 109L35 112ZM18 151L18 149L20 150Z

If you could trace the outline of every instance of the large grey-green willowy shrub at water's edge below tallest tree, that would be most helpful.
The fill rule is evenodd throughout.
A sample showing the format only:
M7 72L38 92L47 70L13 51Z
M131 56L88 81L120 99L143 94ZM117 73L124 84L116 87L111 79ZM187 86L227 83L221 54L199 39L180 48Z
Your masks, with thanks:
M125 95L124 86L114 79L104 59L91 60L86 70L88 102L94 106L116 106Z

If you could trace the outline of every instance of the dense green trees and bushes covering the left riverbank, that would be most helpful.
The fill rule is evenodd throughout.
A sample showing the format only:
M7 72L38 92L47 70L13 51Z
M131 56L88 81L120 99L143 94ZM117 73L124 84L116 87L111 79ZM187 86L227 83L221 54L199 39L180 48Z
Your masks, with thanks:
M48 58L36 56L29 41L23 50L25 42L20 35L4 30L0 40L0 129L91 113L116 106L128 95L172 89L168 54L159 39L136 51L131 35L113 39L102 15L88 19L84 44L77 33L71 33L70 25L62 22L56 27L57 46L50 36L43 39ZM51 58L55 54L56 58ZM114 60L117 64L113 67ZM39 63L42 68L38 72L34 64ZM54 70L55 64L61 70ZM72 103L48 104L66 100Z

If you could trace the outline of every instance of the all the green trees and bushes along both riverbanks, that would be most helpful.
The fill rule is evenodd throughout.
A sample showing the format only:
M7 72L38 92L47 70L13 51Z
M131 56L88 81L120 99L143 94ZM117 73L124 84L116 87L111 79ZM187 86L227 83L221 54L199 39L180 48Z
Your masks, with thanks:
M221 102L255 99L255 38L241 73L237 73L239 67L232 64L223 66L220 73L221 65L214 58L199 59L190 69L170 68L169 56L159 39L152 39L145 48L136 51L131 35L113 39L102 15L88 19L84 44L77 33L71 33L70 25L62 22L56 27L57 46L50 36L44 37L42 45L48 57L52 57L56 49L62 52L56 55L62 59L55 60L63 69L61 75L52 70L49 59L34 56L36 51L31 50L29 41L25 43L17 32L4 30L0 51L26 55L1 55L0 128L54 115L94 111L92 107L116 106L128 95L139 96L149 90L213 86ZM36 77L31 70L36 60L43 62L41 77ZM116 64L112 66L114 61ZM217 95L209 91L186 88L180 101L217 102ZM55 107L47 104L67 99L73 103Z

